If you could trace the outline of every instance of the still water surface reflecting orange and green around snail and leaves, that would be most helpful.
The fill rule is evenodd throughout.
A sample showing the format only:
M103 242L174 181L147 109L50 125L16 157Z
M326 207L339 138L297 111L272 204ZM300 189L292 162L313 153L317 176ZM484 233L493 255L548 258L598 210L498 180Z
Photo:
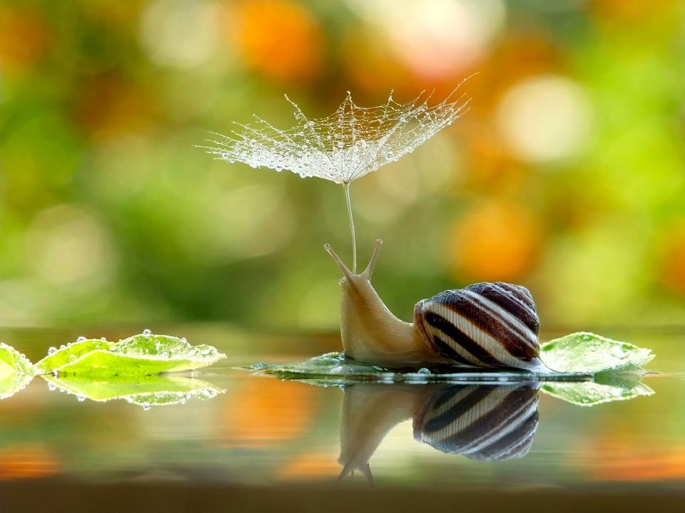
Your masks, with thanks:
M539 393L537 385L493 391L362 383L342 390L282 381L235 367L337 350L338 336L151 328L227 353L228 361L195 373L225 392L145 410L124 400L80 401L36 378L0 401L0 480L23 486L401 487L422 494L685 492L682 331L604 333L653 349L649 370L659 373L643 381L654 395L584 408ZM116 340L135 331L139 327L4 329L0 340L37 361L49 346L80 335ZM465 422L460 411L469 408L492 410L489 425L455 436L449 430ZM497 429L508 431L497 435Z

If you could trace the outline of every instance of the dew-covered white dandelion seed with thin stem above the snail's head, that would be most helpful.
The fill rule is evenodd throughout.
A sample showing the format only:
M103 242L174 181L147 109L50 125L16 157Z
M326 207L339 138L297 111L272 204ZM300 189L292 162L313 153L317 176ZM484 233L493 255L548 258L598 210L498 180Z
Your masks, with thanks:
M465 113L470 99L457 91L467 80L432 106L433 93L422 91L407 103L397 103L390 93L384 105L360 107L348 91L338 109L325 118L308 118L286 95L293 105L292 127L282 130L255 116L253 123L235 123L238 129L230 135L214 134L216 138L207 141L211 145L200 147L229 162L288 170L303 178L342 185L352 234L352 271L356 272L350 183L414 151Z

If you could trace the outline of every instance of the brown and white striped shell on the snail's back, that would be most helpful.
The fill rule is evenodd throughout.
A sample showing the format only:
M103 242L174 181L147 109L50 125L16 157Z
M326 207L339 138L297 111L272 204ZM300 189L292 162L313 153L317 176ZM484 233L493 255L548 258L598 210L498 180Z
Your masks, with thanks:
M419 301L415 326L433 351L458 363L535 369L540 328L524 286L477 283Z

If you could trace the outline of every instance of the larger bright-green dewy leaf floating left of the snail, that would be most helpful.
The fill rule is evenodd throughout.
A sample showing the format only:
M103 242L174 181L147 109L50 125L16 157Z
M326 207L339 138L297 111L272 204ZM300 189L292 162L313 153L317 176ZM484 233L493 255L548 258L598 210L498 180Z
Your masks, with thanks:
M210 366L225 355L212 346L191 346L185 338L143 333L118 343L86 340L46 356L41 373L79 376L153 375Z

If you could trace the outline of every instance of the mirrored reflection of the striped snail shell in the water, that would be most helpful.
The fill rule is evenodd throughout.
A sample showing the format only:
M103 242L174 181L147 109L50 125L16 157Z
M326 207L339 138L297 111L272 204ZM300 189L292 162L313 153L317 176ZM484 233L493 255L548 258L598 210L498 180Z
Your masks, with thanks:
M455 385L427 401L414 436L473 460L512 460L529 451L537 430L538 390L525 385Z

